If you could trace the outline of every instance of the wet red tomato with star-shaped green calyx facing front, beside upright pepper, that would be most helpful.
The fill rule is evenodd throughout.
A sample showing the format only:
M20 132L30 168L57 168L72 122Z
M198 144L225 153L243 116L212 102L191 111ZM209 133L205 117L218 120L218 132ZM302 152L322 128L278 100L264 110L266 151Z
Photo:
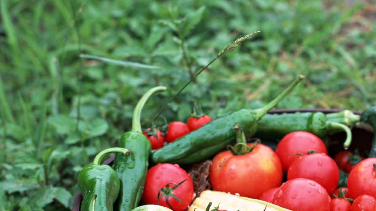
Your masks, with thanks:
M184 182L179 187L171 190L175 185L169 183L178 184L182 181ZM159 191L159 188L164 189ZM191 176L177 164L157 164L147 171L142 201L145 204L158 204L158 192L160 194L167 194L168 203L172 207L167 204L165 196L159 199L159 205L173 209L174 211L185 211L193 199L193 182ZM168 192L174 194L183 203L174 199Z

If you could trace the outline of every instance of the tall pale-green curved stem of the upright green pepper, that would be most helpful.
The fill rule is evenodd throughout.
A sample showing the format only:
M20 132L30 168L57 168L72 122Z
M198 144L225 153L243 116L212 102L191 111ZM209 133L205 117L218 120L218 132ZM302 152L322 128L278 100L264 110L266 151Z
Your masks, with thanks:
M135 110L133 111L133 118L132 118L132 131L137 133L142 133L141 129L141 111L146 103L146 101L152 96L154 93L162 92L166 90L165 86L157 86L152 89L149 89L138 101Z

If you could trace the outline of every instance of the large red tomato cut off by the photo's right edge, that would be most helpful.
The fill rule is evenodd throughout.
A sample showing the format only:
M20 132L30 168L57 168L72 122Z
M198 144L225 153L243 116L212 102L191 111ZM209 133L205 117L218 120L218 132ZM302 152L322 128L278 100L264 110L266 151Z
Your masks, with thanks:
M352 199L368 194L376 198L376 158L367 158L356 164L347 179L347 188Z

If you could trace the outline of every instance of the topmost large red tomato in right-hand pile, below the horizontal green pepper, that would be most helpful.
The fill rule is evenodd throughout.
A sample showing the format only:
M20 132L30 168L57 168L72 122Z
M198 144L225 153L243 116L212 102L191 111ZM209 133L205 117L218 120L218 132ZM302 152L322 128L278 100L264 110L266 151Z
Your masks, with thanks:
M324 142L315 134L306 131L296 131L287 134L277 145L276 153L281 160L283 170L287 172L288 167L295 158L315 150L317 153L327 154Z

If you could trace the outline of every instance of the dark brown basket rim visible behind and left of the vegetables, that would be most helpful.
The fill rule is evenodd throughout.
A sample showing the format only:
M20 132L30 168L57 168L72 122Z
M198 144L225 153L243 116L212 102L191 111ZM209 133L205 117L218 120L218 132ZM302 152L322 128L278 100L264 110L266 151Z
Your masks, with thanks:
M323 112L323 113L335 113L335 112L341 112L343 110L341 109L275 109L270 110L268 113L295 113L295 112ZM362 112L359 111L353 111L356 115L361 115ZM112 164L114 161L115 156L112 156L108 158L106 161L104 161L102 164ZM81 205L81 191L78 191L76 196L74 197L73 201L73 207L72 211L80 211L80 205Z

